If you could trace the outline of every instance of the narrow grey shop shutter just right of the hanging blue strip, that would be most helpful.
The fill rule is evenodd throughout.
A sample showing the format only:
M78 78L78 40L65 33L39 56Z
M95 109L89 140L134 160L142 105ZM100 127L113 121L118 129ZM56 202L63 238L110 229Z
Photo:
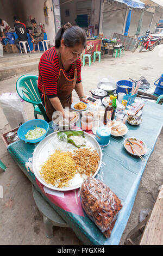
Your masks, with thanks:
M131 12L131 22L130 22L130 27L129 27L129 31L128 31L128 36L134 36L136 31L137 31L137 25L139 23L140 20L140 16L141 16L141 9L137 9L134 8L132 9Z

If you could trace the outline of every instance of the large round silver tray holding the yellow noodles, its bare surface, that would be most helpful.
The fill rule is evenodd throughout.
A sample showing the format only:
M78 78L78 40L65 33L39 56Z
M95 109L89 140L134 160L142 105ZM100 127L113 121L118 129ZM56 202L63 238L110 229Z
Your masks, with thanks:
M69 130L69 131L76 131L76 130ZM71 151L73 149L77 149L73 144L70 144L70 143L66 144L66 142L60 141L58 139L57 133L58 133L58 131L53 132L50 135L48 135L35 148L34 153L33 153L33 163L32 163L33 172L34 172L37 180L39 180L41 184L43 184L44 186L46 186L48 188L51 188L52 190L58 190L58 191L74 190L76 188L79 188L82 185L81 181L79 184L77 184L73 187L58 188L58 187L53 186L52 184L47 184L46 181L40 175L41 164L45 163L49 159L49 156L54 154L56 149L64 151L64 152ZM99 168L101 167L102 149L101 149L100 145L98 144L98 142L96 141L96 139L93 138L93 136L91 136L89 133L84 132L84 136L86 138L86 147L83 147L83 148L92 147L92 148L96 149L97 153L99 154L99 157L100 157L100 160L98 163L98 168L97 168L95 174L92 175L92 177L94 177L94 176L96 176L96 174L99 171ZM65 143L65 144L63 144L63 143ZM63 150L64 147L66 149Z

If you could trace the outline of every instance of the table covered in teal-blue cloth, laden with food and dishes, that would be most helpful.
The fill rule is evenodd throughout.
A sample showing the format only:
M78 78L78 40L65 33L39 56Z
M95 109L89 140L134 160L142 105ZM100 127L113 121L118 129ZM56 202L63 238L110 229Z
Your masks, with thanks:
M101 179L112 191L121 199L123 208L118 214L114 229L112 229L109 239L105 239L101 231L83 212L80 205L80 197L77 196L76 212L72 213L61 209L52 202L52 195L45 193L43 186L35 179L32 172L32 154L36 144L18 141L8 146L8 151L18 166L26 174L36 189L41 192L43 198L47 200L58 214L64 218L65 222L77 234L84 244L92 245L118 245L123 231L127 225L131 210L142 174L145 170L149 156L154 150L156 139L162 129L163 106L153 102L146 102L142 109L142 123L140 126L130 126L125 137L134 136L140 138L148 147L147 154L143 156L146 162L142 162L139 157L131 156L123 147L124 138L111 137L108 147L103 148L103 164L96 178ZM49 133L52 132L51 130ZM76 193L77 191L74 191ZM68 197L67 197L68 198ZM71 204L67 199L70 207ZM73 206L73 205L72 205ZM81 211L80 211L81 210Z

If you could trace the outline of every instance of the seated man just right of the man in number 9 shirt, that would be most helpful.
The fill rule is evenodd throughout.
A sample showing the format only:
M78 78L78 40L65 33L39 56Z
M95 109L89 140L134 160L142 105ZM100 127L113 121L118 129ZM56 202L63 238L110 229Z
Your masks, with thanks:
M38 44L38 42L43 41L43 31L42 31L42 28L39 25L37 25L35 20L32 20L31 23L32 23L32 26L34 27L32 32L30 33L30 37L32 38L32 42L33 42L32 52L35 52L35 47Z

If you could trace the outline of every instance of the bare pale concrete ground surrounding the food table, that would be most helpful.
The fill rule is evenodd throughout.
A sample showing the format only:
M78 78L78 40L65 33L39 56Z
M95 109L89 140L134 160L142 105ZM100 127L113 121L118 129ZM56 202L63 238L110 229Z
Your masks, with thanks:
M158 49L152 52L125 52L121 58L104 56L101 63L91 63L82 67L82 81L85 94L96 88L100 78L111 76L115 80L138 79L141 75L153 84L162 74L162 58ZM38 74L37 71L30 74ZM1 93L15 92L18 76L0 82ZM78 99L74 92L74 101ZM24 103L28 120L33 119L33 106ZM7 119L0 108L0 133L10 130ZM0 198L0 244L1 245L82 245L70 228L54 228L54 237L47 239L43 233L43 221L32 195L32 185L22 173L0 138L0 159L8 167L6 172L0 170L0 185L3 186L3 198ZM163 131L156 142L154 152L149 158L133 210L126 229L121 237L120 245L124 245L127 234L139 223L142 209L152 209L163 181Z

